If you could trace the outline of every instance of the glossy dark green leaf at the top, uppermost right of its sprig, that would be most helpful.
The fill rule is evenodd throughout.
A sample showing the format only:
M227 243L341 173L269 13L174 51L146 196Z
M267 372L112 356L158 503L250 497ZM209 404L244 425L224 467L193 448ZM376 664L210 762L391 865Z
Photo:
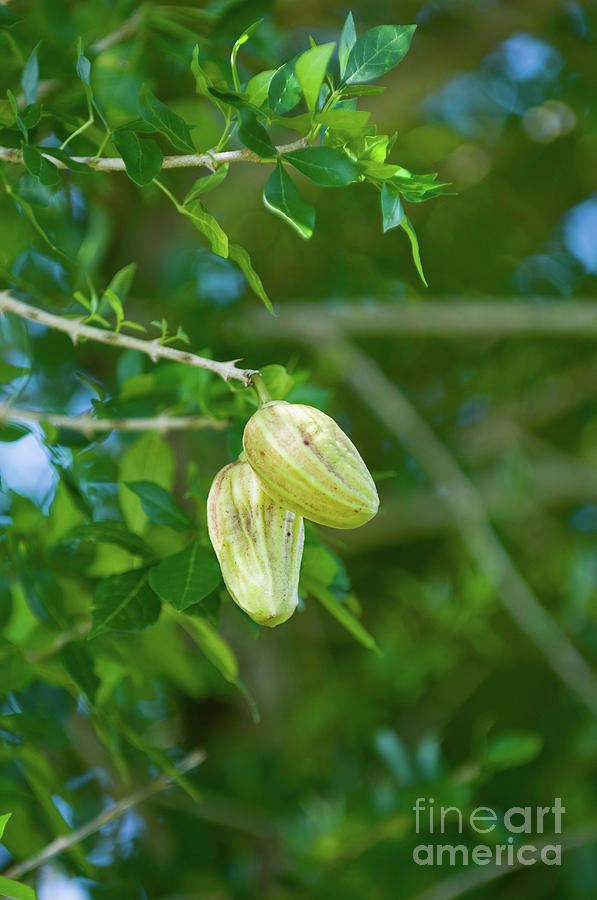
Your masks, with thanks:
M348 55L342 84L372 81L406 56L416 25L378 25L357 38Z

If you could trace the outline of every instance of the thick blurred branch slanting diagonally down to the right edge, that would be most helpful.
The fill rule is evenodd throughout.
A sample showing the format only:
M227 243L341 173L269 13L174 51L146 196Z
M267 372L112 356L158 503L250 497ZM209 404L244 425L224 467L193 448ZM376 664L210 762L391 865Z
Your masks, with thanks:
M541 605L488 519L483 499L412 404L365 352L338 339L321 348L355 393L417 459L450 510L454 525L502 605L559 678L597 716L597 677L568 635Z

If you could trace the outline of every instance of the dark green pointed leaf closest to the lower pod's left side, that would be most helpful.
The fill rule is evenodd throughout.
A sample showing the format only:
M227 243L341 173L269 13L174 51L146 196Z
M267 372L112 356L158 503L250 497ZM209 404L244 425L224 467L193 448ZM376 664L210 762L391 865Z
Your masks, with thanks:
M217 560L198 541L167 556L149 573L156 594L180 612L211 594L221 580Z

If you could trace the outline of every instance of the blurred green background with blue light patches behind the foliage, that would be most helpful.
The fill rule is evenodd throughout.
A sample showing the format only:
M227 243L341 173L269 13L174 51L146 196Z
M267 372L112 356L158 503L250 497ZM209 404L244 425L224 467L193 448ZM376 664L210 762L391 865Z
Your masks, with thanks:
M219 124L213 108L194 95L188 74L194 41L209 41L225 61L242 29L264 16L240 57L246 78L303 50L309 35L318 43L336 39L348 11L327 0L214 0L195 7L210 16L181 25L176 7L156 6L165 10L161 25L102 48L97 42L127 21L135 4L47 0L11 8L28 17L21 32L27 52L43 35L42 78L63 78L64 48L81 34L91 48L95 90L113 117L134 115L139 86L149 81L196 124L206 148L217 140ZM207 760L189 776L202 799L193 802L178 789L156 795L83 845L93 872L83 875L68 855L42 869L40 900L597 896L593 682L584 670L572 672L575 690L554 672L559 639L552 644L543 619L535 629L519 627L529 611L526 590L559 624L563 640L597 666L595 339L537 334L545 310L590 300L596 287L597 5L355 0L352 11L359 31L418 24L410 53L383 79L386 93L364 98L361 106L372 110L380 131L398 132L393 162L438 171L453 185L454 195L409 208L428 289L418 281L405 235L382 235L375 192L358 184L333 190L301 179L317 210L315 234L305 243L262 206L266 167L239 164L206 200L249 249L277 308L275 320L261 313L238 271L204 249L153 188L141 191L123 175L104 176L84 191L75 182L66 205L49 200L45 215L62 246L69 228L76 243L76 223L87 223L99 284L137 262L129 318L147 323L165 315L174 327L182 325L191 349L208 348L216 359L286 366L296 376L290 399L321 406L348 431L378 477L381 512L358 531L319 536L342 561L351 602L382 655L354 641L314 602L258 635L225 603L222 632L259 706L256 725L239 693L199 655L179 655L166 632L127 637L126 677L114 661L98 670L106 693L117 684L114 716L137 723L146 741L166 754L203 747ZM0 53L7 86L18 83L6 43ZM78 90L66 81L58 88ZM180 194L194 177L172 172L168 183ZM73 285L46 251L32 243L26 220L3 194L4 284L14 287L17 277L29 286L30 302L43 294L60 309ZM481 316L470 333L465 305L458 307L461 324L445 334L441 323L433 334L418 335L412 328L401 332L399 322L375 325L379 303L408 306L416 321L428 304L463 301L474 301ZM480 304L495 310L506 301L525 304L535 324L510 337L484 327ZM506 317L509 308L503 307ZM355 314L352 343L338 350L326 323L348 309ZM3 335L13 351L34 360L35 377L19 402L35 408L87 408L95 395L75 371L101 382L110 396L142 374L154 378L154 396L178 392L184 399L205 390L205 379L189 376L175 387L171 371L156 380L150 361L89 344L74 361L65 338L36 327L26 338L16 320ZM355 359L359 365L373 360L382 382L355 391ZM405 404L398 412L417 411L414 430L387 406L393 389ZM214 386L206 402L226 396L225 386ZM151 399L145 406L142 396L135 402L134 414L152 413ZM129 406L114 401L110 408L129 414ZM189 463L205 491L237 451L240 427L168 438L181 502ZM463 473L456 486L445 465L430 477L429 456L432 468L438 462L433 435L447 453L440 463ZM51 451L41 450L39 440L34 434L0 445L5 522L10 507L23 533L43 531L52 521L45 516L58 475L84 486L95 513L113 507L111 472L134 438L110 438L92 450L78 450L73 438ZM454 499L454 490L466 492L471 484L493 523L491 538L478 516L467 520L466 503L460 523L458 502L445 503L446 491ZM502 551L522 573L522 588L508 578L496 587L493 567ZM21 717L19 740L38 754L38 786L49 772L56 779L50 802L69 826L131 789L95 736L85 704L51 675L24 682L19 687L17 678L5 693L0 718L0 800L15 811L0 867L53 836L35 778L16 759L13 720ZM148 781L154 770L145 750L125 755L135 783ZM514 873L469 866L460 881L455 867L418 866L413 849L430 839L415 833L417 797L465 813L486 806L499 815L512 806L551 806L561 797L562 865ZM500 825L487 843L507 836ZM453 826L445 840L484 842Z

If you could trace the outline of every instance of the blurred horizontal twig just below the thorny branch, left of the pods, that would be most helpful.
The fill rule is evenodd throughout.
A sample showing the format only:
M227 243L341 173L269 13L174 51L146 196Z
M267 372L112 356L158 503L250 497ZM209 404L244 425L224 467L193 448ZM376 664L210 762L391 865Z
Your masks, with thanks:
M65 416L60 413L48 413L34 409L23 409L20 406L0 406L0 422L25 419L31 422L47 422L56 428L70 428L92 436L98 431L196 431L214 428L220 431L228 427L221 419L209 419L197 416L150 416L133 419L96 419L89 413L79 416Z

